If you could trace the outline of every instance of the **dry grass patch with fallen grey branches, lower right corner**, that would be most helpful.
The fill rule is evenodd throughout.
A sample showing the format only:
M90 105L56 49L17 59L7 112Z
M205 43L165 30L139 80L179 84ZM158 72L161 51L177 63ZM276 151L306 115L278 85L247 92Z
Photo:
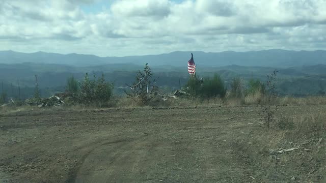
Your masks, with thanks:
M244 126L243 134L230 137L233 153L246 160L257 182L326 182L326 113L279 120L268 131ZM284 149L290 150L279 153Z

